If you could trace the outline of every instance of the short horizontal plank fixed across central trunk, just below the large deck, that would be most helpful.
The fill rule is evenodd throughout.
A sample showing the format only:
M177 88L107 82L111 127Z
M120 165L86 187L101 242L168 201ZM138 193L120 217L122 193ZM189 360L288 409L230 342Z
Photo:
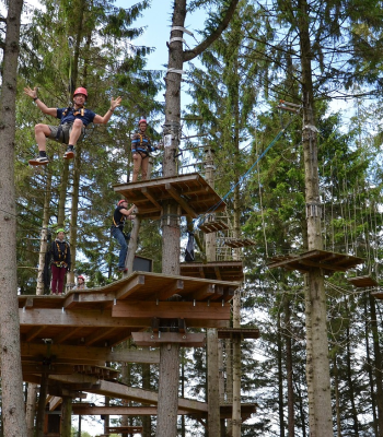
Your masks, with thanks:
M204 333L179 333L179 332L132 332L131 336L138 346L160 347L164 343L178 343L183 347L206 346Z

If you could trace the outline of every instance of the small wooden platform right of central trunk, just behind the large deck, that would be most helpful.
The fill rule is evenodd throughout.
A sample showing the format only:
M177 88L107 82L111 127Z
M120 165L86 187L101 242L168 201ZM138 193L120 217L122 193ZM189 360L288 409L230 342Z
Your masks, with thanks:
M204 277L219 281L239 281L244 279L242 261L182 262L183 276Z

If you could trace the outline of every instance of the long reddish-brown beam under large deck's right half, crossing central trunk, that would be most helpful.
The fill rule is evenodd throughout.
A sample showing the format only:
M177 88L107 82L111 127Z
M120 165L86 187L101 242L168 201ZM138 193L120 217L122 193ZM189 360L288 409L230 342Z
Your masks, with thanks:
M196 302L160 302L159 305L147 302L117 300L112 308L113 317L159 317L161 319L211 319L211 320L230 320L230 305L221 305L218 303ZM189 326L189 323L188 323Z

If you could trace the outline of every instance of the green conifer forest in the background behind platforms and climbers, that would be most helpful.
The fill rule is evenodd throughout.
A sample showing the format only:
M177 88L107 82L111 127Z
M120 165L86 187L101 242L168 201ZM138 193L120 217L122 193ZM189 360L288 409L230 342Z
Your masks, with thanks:
M118 251L109 226L119 198L112 187L131 174L130 134L138 119L148 117L154 142L161 140L163 122L159 97L163 73L146 68L152 48L135 45L144 32L135 27L135 20L144 16L148 1L126 10L98 0L42 3L43 10L24 5L28 20L22 26L19 64L15 187L21 294L36 293L42 232L53 235L62 225L76 253L74 271L86 275L88 286L117 279ZM199 34L195 32L197 38L214 27L220 19L217 5L222 4L223 0L188 4L189 14L207 8L208 19ZM278 108L280 99L302 102L298 38L302 14L310 21L324 249L365 259L356 271L326 277L334 435L378 436L383 433L378 425L383 414L379 405L382 309L371 292L380 291L383 273L380 3L241 1L223 36L198 63L187 63L183 91L192 103L183 114L179 173L204 174L204 151L211 146L216 190L228 203L221 218L232 231L240 209L241 233L255 241L242 255L246 277L242 322L257 326L262 338L243 343L242 390L244 402L256 402L258 411L243 424L242 435L292 436L290 408L295 435L307 436L306 284L299 272L267 268L270 257L306 249L302 119L299 111ZM120 95L123 105L107 127L88 129L73 163L63 162L63 146L50 142L51 163L35 169L27 165L36 153L34 126L55 121L23 95L26 85L38 86L48 107L68 106L72 85L88 88L88 107L97 114L107 110L112 96ZM337 111L339 106L346 109ZM187 139L190 131L199 137ZM161 155L155 157L154 176L161 176ZM239 193L235 203L234 190ZM197 225L196 236L204 243ZM183 233L186 238L186 222ZM218 235L221 260L233 257L224 249L224 237ZM138 253L152 258L154 271L161 272L160 223L141 225ZM205 253L197 250L197 260L204 259ZM356 288L347 281L360 275L373 276L379 286ZM185 354L182 366L182 390L205 400L202 351ZM142 383L139 367L129 366L131 385ZM147 388L154 389L156 382L152 369ZM204 435L202 426L194 421L179 423L179 429L181 435L185 429Z

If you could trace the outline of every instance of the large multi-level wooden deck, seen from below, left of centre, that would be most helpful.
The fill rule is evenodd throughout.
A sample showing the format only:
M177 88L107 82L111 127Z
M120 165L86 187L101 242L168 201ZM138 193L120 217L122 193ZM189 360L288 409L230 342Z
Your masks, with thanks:
M134 272L109 285L65 296L19 296L21 341L114 346L131 332L150 328L153 318L184 318L190 328L223 328L237 286L236 282ZM169 302L175 294L179 302Z

